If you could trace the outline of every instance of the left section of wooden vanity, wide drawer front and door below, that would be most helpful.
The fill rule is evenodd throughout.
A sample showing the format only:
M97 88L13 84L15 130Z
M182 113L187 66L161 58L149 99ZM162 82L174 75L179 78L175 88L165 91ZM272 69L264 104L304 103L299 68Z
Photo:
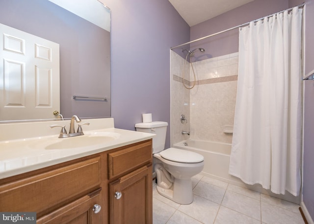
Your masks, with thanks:
M36 212L37 223L77 219L101 224L101 156L79 159L0 180L0 211Z

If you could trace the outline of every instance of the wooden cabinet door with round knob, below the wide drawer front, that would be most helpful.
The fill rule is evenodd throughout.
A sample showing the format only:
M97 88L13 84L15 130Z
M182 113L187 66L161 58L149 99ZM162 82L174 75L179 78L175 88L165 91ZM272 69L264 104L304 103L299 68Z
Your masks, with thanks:
M101 189L85 195L37 220L37 224L102 224L102 212L93 206L101 205Z

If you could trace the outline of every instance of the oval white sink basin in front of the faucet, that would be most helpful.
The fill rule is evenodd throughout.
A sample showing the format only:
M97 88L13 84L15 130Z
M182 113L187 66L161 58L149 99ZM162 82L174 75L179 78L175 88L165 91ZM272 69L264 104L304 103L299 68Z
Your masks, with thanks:
M92 132L80 136L56 139L41 139L30 147L42 149L72 149L102 145L118 139L120 134L113 132Z

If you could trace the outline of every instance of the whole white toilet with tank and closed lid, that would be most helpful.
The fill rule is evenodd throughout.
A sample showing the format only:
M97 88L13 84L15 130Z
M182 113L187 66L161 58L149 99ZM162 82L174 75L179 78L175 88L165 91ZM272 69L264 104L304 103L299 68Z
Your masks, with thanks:
M136 131L156 134L153 137L153 169L157 177L157 192L179 204L193 202L191 177L204 168L204 157L196 152L164 149L167 122L135 124Z

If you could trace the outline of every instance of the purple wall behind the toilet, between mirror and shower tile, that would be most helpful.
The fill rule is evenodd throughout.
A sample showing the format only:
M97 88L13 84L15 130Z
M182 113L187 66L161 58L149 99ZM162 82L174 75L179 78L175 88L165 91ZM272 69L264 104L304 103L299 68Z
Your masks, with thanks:
M189 26L168 0L106 0L111 9L111 116L135 130L143 113L168 122L170 47L189 41Z

